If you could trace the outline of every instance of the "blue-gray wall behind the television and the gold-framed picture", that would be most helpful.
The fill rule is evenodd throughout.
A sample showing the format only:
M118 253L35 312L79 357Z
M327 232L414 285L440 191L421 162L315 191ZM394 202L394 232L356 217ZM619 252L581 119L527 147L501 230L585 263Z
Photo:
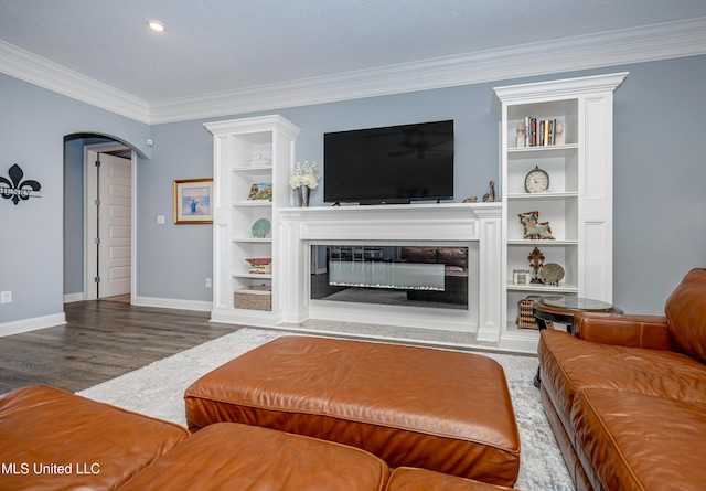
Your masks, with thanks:
M271 110L301 128L297 156L322 164L323 134L341 129L454 119L457 201L482 196L498 179L498 120L490 113L490 86L458 87L333 104ZM236 115L229 118L254 116ZM229 118L215 118L222 120ZM210 301L212 226L173 225L172 181L213 175L213 136L205 120L156 125L150 164L138 170L138 296ZM321 188L311 204L322 202ZM167 225L157 224L157 215Z

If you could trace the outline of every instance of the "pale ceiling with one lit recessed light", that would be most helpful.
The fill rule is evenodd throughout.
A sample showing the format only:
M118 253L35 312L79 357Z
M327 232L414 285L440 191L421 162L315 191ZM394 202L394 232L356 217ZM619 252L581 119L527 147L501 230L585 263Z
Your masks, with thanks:
M150 31L151 19L167 31ZM692 23L674 23L684 20ZM662 24L703 40L706 1L0 0L0 71L18 76L18 60L31 61L65 85L96 82L149 111L224 93L398 75L415 63L473 60L478 68L494 53L534 45L550 57L597 34L613 44L642 32L635 28L664 35Z

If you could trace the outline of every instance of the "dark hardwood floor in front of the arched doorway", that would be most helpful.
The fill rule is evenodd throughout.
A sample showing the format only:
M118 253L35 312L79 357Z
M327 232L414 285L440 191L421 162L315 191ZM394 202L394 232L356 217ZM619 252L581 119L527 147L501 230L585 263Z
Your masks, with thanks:
M64 310L64 325L0 338L0 394L33 384L83 391L240 329L210 322L208 312L119 301Z

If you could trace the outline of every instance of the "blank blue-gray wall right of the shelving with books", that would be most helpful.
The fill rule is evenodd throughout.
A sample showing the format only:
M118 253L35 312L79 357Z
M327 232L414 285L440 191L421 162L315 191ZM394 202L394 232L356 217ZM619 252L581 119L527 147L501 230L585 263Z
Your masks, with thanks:
M706 267L706 56L625 67L616 93L613 300L663 313Z

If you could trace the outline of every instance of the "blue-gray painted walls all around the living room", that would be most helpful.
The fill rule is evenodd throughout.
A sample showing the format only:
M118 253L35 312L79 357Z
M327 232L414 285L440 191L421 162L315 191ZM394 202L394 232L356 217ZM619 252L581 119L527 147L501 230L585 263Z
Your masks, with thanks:
M498 121L492 87L541 79L629 71L616 93L614 302L625 311L661 313L666 296L693 267L706 267L706 162L700 151L706 56L500 81L266 111L302 128L299 159L322 159L327 131L454 119L456 195L481 196L498 179ZM227 118L253 116L233 115ZM139 297L211 300L212 226L174 225L172 182L213 175L212 137L205 120L149 127L31 84L0 75L0 175L12 163L42 183L42 198L18 206L0 200L0 323L63 310L64 141L89 132L136 148L137 284ZM145 146L146 138L154 147ZM78 151L67 148L67 152ZM150 156L151 151L151 156ZM67 171L67 179L76 179ZM71 183L67 183L71 186ZM321 203L321 190L312 204ZM164 225L157 215L165 215ZM69 228L66 228L67 231ZM69 233L69 232L66 232ZM73 233L73 232L72 232Z

